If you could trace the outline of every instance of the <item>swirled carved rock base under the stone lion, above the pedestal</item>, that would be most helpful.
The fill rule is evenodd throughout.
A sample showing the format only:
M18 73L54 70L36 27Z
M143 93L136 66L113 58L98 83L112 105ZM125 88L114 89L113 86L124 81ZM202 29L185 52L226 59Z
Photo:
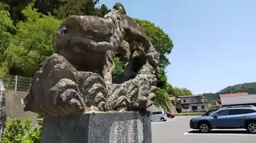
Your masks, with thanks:
M106 87L100 75L77 71L64 56L52 54L39 69L24 99L24 111L65 116L97 111L143 110L153 104L157 78L145 64L135 78Z

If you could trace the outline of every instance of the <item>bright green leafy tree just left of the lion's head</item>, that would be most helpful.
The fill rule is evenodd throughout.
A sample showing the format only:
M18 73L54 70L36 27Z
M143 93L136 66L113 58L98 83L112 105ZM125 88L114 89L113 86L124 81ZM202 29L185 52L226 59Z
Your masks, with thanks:
M41 66L41 62L53 53L52 35L61 20L49 15L42 15L33 8L33 3L24 10L25 21L17 23L17 34L10 49L15 49L10 74L32 77Z

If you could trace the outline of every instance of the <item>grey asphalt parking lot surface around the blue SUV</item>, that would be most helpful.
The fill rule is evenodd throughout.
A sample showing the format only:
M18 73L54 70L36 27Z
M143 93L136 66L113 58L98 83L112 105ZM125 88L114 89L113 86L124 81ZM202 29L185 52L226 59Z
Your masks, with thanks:
M256 134L248 134L246 130L212 130L210 133L200 133L189 128L191 116L180 116L168 119L166 122L152 122L152 142L231 142L231 143L254 143Z

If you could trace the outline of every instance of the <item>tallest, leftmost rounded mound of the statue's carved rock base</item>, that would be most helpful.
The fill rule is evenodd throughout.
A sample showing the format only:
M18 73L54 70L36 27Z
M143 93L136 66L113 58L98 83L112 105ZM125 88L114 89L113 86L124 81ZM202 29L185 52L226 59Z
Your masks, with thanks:
M76 69L61 55L54 53L38 70L25 98L25 109L41 115L81 113L84 102L76 83Z

